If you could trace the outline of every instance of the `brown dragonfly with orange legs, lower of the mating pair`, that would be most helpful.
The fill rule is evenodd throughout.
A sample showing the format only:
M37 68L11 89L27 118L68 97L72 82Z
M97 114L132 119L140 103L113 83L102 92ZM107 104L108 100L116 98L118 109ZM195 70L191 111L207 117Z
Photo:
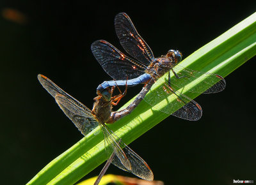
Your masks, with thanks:
M95 103L93 103L93 109L90 110L44 75L39 74L38 80L83 135L87 135L100 126L104 135L106 154L108 157L115 154L112 159L113 165L142 179L153 181L154 175L147 163L125 145L105 124L108 123L113 105L116 105L125 96L126 89L124 93L121 93L119 89L120 94L116 96L112 96L115 86L111 89L106 88L102 92L97 91L98 96L94 98Z

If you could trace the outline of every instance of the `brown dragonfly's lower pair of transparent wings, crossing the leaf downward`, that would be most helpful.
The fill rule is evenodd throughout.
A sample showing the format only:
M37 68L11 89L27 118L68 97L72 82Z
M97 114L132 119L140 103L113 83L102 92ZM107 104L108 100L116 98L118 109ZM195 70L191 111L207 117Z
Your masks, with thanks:
M118 168L131 172L134 175L148 181L154 179L154 175L147 163L138 156L134 151L132 151L127 145L118 138L111 129L108 128L105 124L101 126L104 133L104 137L108 144L111 144L112 150L109 150L108 156L111 155L111 151L115 152L113 158L113 165ZM105 147L108 150L108 147ZM123 148L123 149L122 149Z

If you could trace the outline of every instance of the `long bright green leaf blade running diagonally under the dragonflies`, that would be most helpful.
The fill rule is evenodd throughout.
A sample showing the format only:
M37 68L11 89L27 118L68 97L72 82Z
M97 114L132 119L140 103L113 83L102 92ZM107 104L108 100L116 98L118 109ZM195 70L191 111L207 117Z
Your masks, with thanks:
M256 54L256 13L221 34L182 61L193 70L226 77ZM164 78L164 77L163 77ZM200 85L200 83L191 84ZM190 98L199 94L182 92ZM150 94L148 94L150 96ZM132 101L132 100L131 100ZM129 101L121 109L127 107ZM159 100L163 101L163 100ZM173 108L173 112L179 107ZM109 125L116 135L130 144L169 115L142 101L128 116ZM45 166L28 184L72 184L106 161L104 138L99 128Z

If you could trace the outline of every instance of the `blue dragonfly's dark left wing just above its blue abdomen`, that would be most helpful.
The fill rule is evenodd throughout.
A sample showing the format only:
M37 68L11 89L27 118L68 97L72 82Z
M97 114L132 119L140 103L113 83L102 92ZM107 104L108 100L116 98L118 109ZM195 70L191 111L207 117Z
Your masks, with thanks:
M147 66L141 65L108 43L98 40L92 43L92 53L102 68L115 80L126 80L142 75Z

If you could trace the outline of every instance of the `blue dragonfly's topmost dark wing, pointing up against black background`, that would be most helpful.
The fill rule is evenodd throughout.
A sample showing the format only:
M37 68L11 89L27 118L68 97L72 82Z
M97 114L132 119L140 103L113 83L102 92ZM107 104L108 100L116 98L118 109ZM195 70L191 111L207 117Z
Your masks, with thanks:
M126 13L118 13L116 15L115 29L122 47L128 54L146 66L154 61L152 50L138 34L131 18Z

